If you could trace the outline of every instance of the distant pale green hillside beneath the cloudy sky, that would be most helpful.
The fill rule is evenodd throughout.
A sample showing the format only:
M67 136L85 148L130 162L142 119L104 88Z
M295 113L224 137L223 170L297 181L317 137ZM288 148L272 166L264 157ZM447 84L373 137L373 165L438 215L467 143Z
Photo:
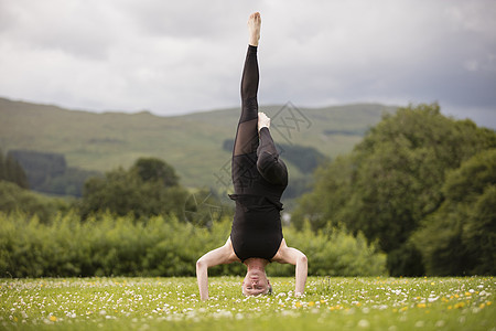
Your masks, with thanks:
M261 107L273 117L277 142L314 147L327 157L349 151L384 111L393 109L368 104ZM0 148L63 153L69 167L98 171L158 157L176 169L184 185L222 189L216 175L228 181L223 167L230 160L223 142L233 139L238 116L238 108L173 117L95 114L0 98ZM289 167L291 178L302 175Z

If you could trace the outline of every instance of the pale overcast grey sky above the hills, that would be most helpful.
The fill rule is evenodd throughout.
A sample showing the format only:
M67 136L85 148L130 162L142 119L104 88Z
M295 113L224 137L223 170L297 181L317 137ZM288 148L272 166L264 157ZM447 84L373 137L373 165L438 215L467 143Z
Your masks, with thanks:
M0 96L163 116L236 107L254 11L262 106L436 102L496 128L494 0L0 0Z

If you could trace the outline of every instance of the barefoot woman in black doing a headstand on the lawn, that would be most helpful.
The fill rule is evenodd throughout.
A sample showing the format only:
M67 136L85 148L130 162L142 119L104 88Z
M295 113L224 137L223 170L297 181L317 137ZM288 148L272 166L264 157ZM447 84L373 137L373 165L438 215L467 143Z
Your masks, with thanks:
M258 113L258 62L260 13L248 20L249 45L241 78L241 116L233 150L231 175L236 202L230 236L226 244L208 252L196 263L196 277L202 300L208 299L207 269L222 264L241 261L247 266L242 293L256 296L272 291L265 271L271 261L296 266L296 296L306 281L306 256L288 247L282 237L280 202L288 185L288 171L279 159L270 136L270 118Z

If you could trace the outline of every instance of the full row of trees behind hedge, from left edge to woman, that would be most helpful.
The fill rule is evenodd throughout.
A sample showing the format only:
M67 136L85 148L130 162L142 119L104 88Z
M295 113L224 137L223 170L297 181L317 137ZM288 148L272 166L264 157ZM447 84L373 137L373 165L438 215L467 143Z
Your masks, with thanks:
M57 211L68 210L82 221L101 212L131 215L136 220L173 215L198 226L211 226L214 220L233 214L233 207L223 204L215 192L181 186L175 170L157 158L141 158L129 169L118 168L91 177L82 191L80 199L48 197L0 181L0 212L37 215L46 224Z

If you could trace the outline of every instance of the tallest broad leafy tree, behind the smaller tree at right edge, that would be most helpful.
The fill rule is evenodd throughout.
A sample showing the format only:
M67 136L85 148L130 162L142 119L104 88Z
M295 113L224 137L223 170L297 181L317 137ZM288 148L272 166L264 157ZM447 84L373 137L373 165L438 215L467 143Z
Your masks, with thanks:
M444 117L436 104L399 108L384 116L351 154L315 173L314 189L293 218L309 220L314 229L328 222L363 232L388 253L392 276L422 274L410 235L443 202L445 172L492 147L493 130Z

